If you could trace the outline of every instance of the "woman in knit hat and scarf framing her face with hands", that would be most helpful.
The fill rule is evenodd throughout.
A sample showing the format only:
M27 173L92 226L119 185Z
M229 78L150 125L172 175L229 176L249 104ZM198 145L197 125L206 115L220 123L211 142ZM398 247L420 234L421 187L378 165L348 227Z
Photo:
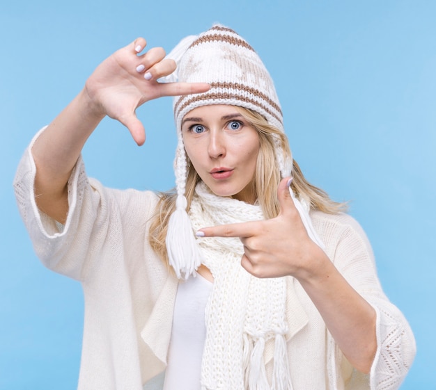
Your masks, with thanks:
M149 388L163 372L168 390L397 389L410 327L357 222L292 161L254 49L219 25L169 58L145 45L99 65L15 179L38 256L84 288L79 389ZM100 120L141 145L134 111L162 95L180 95L176 192L88 179L81 148Z

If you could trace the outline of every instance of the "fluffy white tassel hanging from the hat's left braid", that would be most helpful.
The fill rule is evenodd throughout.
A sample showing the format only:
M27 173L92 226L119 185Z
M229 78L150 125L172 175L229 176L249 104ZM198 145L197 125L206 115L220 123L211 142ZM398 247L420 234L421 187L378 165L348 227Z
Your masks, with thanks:
M186 208L186 197L178 195L176 211L169 219L165 239L169 264L173 267L178 279L187 279L189 275L195 275L196 269L201 264L200 250Z

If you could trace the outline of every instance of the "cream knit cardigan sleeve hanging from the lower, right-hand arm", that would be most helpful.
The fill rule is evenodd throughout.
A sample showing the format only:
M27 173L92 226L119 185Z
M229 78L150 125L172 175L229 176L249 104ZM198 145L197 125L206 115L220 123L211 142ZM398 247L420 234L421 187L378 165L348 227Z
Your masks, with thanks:
M377 352L371 367L371 390L395 390L400 387L412 365L416 345L410 325L382 291L371 245L360 225L350 216L341 216L341 238L334 253L334 263L348 280L375 309L377 315ZM354 373L351 381L363 382L361 373ZM355 389L354 385L349 387Z

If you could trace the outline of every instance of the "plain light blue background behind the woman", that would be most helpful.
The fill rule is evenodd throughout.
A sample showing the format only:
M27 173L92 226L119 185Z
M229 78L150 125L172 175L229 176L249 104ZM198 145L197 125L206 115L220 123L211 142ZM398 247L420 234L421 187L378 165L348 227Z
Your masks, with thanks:
M100 61L137 36L169 51L213 22L263 58L306 177L366 230L418 354L401 389L436 389L435 1L14 1L0 9L0 389L75 389L83 296L43 268L17 213L15 167ZM139 109L137 147L104 120L84 149L105 185L173 186L169 98Z

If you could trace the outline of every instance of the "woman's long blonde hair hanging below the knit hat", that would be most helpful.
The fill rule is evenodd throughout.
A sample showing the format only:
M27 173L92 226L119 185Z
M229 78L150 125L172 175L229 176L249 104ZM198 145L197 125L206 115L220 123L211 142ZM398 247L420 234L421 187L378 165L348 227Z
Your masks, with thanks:
M265 118L251 111L248 108L235 106L244 116L244 119L258 131L260 149L256 165L256 176L254 178L254 189L258 195L258 202L262 208L265 218L274 218L279 215L280 206L277 199L277 187L282 177L280 174L279 163L276 159L274 137L279 139L279 143L285 156L290 156L288 138L282 131L270 125ZM191 206L194 197L195 187L201 181L196 170L188 164L188 174L186 181L185 197L187 199L187 210ZM291 187L299 199L306 200L311 209L316 209L329 214L340 213L347 210L347 204L334 202L327 193L320 188L313 186L304 178L299 165L293 161L293 182ZM259 196L262 194L262 196ZM166 252L165 238L168 230L168 222L171 214L176 210L177 194L175 190L166 193L159 193L155 214L150 223L150 234L148 240L151 247L158 256L168 264L168 254Z

